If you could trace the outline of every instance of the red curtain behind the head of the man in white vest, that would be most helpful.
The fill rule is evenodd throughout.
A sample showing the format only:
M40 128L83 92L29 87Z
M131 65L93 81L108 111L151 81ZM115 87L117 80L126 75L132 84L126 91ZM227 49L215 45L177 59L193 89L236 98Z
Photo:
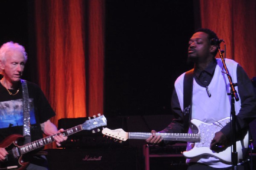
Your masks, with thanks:
M255 77L256 1L200 0L200 9L202 27L225 40L227 58L238 62L249 78Z

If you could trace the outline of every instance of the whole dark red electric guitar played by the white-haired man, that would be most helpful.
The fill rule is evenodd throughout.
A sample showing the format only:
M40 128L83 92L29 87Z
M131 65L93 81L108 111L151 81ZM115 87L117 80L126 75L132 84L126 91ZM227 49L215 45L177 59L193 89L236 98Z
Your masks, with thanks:
M107 125L107 120L104 115L99 114L99 117L96 117L96 116L93 116L93 117L94 118L85 121L83 124L67 129L62 133L57 133L55 135L47 136L45 138L39 139L37 141L33 141L23 146L17 145L17 141L20 138L23 138L22 135L18 135L18 134L10 135L0 143L0 147L5 148L6 151L8 152L6 161L0 162L0 170L25 169L29 165L29 162L24 162L22 160L23 154L28 153L32 150L38 149L40 147L43 147L46 144L54 142L55 141L54 137L57 135L62 134L64 136L69 136L81 130L92 130L94 132L94 129L96 129L97 127L102 127Z

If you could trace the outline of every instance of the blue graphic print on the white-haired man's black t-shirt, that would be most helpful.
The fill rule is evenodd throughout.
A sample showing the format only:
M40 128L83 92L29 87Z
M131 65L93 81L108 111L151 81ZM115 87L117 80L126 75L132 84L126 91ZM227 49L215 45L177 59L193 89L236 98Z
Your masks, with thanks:
M35 124L33 99L29 99L30 124ZM23 125L23 99L0 102L0 128Z

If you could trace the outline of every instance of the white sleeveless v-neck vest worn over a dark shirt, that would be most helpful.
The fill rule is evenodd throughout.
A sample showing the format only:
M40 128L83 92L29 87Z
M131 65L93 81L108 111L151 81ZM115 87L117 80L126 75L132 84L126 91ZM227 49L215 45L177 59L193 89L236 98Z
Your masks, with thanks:
M211 97L207 95L205 87L199 86L195 79L193 79L193 93L192 93L192 119L199 119L205 123L213 123L215 121L221 120L222 118L227 118L230 116L231 109L231 96L227 95L230 93L230 83L227 78L227 75L222 73L223 63L221 59L217 60L217 66L212 78L211 83L209 84L209 92ZM237 65L233 60L226 59L225 63L227 69L230 72L230 75L233 79L233 83L237 83ZM175 81L175 90L177 92L177 97L180 102L180 108L183 110L183 80L184 75L180 75L179 78ZM235 87L238 92L237 86ZM240 98L240 97L239 97ZM241 100L235 102L235 111L236 114L241 109ZM189 133L195 133L194 130L189 128ZM188 143L187 150L190 150L191 144ZM228 167L230 165L223 164L217 158L210 156L201 156L200 158L187 159L187 162L199 162L208 164L211 167ZM214 163L212 163L214 162Z

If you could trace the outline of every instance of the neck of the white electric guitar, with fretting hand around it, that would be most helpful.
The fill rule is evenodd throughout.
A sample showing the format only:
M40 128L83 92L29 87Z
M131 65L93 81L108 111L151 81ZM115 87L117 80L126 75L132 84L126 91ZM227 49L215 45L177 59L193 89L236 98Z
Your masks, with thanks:
M147 139L151 133L128 132L129 139ZM197 133L156 133L166 141L193 141L200 142L200 134Z

